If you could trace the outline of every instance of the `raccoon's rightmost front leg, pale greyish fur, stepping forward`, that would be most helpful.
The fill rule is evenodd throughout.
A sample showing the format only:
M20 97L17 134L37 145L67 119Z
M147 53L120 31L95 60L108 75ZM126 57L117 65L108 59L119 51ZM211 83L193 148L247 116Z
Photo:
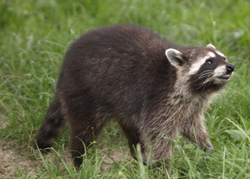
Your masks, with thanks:
M213 152L214 147L210 142L202 118L186 121L182 126L182 134L191 142L198 143L199 147L206 153Z

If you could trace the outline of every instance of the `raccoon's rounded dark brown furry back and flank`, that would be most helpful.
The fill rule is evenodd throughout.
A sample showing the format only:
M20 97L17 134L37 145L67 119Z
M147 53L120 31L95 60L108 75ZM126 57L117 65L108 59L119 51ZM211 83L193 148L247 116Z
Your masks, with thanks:
M67 52L58 89L69 98L91 95L106 106L138 112L172 90L176 71L165 56L169 45L137 26L89 32Z

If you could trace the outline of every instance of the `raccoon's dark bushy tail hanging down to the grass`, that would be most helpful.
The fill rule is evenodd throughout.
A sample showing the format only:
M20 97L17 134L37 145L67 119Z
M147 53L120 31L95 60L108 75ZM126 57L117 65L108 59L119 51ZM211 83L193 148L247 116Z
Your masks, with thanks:
M65 123L61 103L58 95L56 95L50 104L47 115L36 136L35 148L44 149L44 151L47 152Z

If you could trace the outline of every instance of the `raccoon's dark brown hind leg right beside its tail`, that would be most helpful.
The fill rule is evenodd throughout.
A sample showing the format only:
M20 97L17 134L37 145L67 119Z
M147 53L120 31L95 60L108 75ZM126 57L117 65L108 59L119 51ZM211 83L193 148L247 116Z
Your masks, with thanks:
M75 101L75 103L73 103ZM84 101L84 100L82 100ZM95 110L86 109L85 104L73 100L67 101L67 117L71 126L71 155L74 165L79 168L82 164L86 148L98 137L107 119L105 115ZM74 105L75 104L75 105ZM98 113L98 115L96 115Z

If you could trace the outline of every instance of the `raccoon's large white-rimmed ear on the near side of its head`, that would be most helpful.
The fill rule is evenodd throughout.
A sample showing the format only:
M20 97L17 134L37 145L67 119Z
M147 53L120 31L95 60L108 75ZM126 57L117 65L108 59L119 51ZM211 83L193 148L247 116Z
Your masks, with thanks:
M168 61L171 63L171 65L173 65L176 68L179 66L182 66L182 64L184 63L183 55L178 50L170 48L165 51L165 54L168 58Z

